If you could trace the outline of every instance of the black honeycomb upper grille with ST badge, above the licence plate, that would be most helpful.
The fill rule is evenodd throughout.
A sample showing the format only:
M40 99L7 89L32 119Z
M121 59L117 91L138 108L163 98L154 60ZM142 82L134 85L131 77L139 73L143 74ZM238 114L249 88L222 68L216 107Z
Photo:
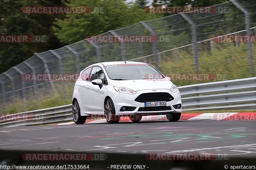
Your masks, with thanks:
M144 103L144 102L162 102L162 101L172 101L174 98L169 93L165 92L155 92L155 93L143 93L138 96L135 101Z

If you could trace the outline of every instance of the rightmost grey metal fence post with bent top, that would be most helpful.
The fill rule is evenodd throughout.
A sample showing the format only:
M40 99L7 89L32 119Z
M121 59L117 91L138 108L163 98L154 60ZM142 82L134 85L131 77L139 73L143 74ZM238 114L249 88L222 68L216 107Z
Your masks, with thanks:
M240 3L238 3L236 0L230 0L239 10L241 10L244 13L245 16L245 29L246 29L246 35L248 37L251 36L251 21L250 21L250 12L248 12ZM253 56L252 56L252 42L247 42L247 50L248 50L248 58L249 58L249 65L251 70L251 77L254 77L254 65L253 65Z

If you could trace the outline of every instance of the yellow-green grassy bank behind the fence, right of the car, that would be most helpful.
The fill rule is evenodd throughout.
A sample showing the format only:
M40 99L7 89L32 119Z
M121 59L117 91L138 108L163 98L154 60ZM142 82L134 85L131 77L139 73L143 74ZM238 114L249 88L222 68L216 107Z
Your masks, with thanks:
M216 45L217 46L217 45ZM253 44L253 56L256 56L256 46ZM198 46L200 48L200 46ZM180 80L179 78L172 80L177 86L184 86L197 83L206 83L213 81L225 81L233 79L241 79L251 77L249 60L247 57L247 45L240 44L238 47L224 46L215 47L211 53L209 49L198 51L199 73L209 75L209 79L201 81L196 80ZM161 55L162 62L159 62L159 70L164 74L193 74L194 58L188 51L175 53L173 55ZM178 56L177 56L178 55ZM169 60L168 60L169 59ZM178 59L178 60L177 60ZM254 62L254 69L256 62Z

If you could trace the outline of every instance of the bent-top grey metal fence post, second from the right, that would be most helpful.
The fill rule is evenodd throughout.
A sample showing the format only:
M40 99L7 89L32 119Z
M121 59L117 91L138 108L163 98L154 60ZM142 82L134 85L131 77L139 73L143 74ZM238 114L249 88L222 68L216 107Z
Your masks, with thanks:
M191 33L192 33L192 42L193 42L193 55L194 55L194 65L196 74L199 73L199 64L198 64L198 54L197 54L197 35L196 35L196 24L185 14L180 13L180 15L188 21L191 25Z

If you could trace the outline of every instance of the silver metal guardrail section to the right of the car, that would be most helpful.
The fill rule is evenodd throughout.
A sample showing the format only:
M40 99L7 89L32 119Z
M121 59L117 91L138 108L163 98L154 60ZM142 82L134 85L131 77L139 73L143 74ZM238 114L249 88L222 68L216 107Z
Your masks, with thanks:
M182 110L256 108L256 77L181 86Z

